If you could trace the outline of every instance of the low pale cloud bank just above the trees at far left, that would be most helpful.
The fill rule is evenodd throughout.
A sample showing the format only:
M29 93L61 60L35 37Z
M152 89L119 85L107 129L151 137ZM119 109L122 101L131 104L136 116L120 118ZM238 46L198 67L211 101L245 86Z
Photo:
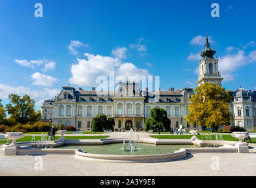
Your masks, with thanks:
M8 95L10 94L18 94L18 95L26 94L26 95L29 95L32 99L35 99L38 105L44 102L45 99L53 98L59 92L60 90L58 89L44 88L41 90L33 90L31 88L26 88L24 86L12 87L12 86L8 86L0 83L1 99L8 99Z

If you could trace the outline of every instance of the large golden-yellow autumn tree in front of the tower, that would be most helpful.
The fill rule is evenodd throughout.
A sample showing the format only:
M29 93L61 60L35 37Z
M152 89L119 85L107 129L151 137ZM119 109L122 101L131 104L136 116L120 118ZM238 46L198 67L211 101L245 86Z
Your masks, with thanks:
M230 125L233 119L230 111L231 96L216 83L204 83L194 90L195 95L189 100L189 123L206 125L216 132L221 125Z

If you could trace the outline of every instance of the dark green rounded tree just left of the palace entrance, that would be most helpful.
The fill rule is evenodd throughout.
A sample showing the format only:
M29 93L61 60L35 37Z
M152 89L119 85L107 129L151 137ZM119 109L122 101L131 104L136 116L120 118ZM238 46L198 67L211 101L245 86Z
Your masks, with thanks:
M91 130L93 132L103 132L104 128L108 127L107 116L103 113L98 114L96 117L92 118Z

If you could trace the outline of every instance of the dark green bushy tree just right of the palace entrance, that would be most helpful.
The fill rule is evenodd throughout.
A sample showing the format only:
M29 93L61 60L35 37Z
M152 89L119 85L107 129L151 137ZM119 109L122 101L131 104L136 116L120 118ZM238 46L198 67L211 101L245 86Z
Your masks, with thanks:
M150 119L144 123L145 130L157 129L169 131L171 129L171 120L167 117L167 112L161 108L153 108L150 110Z

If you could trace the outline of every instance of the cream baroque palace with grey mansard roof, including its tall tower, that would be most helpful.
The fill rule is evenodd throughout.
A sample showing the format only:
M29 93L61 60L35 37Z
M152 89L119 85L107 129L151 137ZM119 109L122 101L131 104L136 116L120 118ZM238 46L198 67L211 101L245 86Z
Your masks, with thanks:
M221 85L221 73L218 70L218 58L210 48L206 37L205 49L201 52L199 63L200 74L198 85L204 82L215 82ZM168 91L141 90L137 82L120 82L117 91L103 91L98 95L97 90L82 90L71 86L62 87L54 99L45 100L41 106L42 120L52 119L55 125L75 126L78 130L90 130L92 118L99 113L114 117L115 129L118 124L129 130L137 127L143 129L146 119L150 118L152 108L163 108L171 120L172 127L179 127L182 122L187 129L205 130L205 126L189 125L185 116L188 114L189 99L194 95L193 88L170 88ZM228 90L232 95L230 104L234 115L233 126L254 130L256 127L256 91L239 88Z

